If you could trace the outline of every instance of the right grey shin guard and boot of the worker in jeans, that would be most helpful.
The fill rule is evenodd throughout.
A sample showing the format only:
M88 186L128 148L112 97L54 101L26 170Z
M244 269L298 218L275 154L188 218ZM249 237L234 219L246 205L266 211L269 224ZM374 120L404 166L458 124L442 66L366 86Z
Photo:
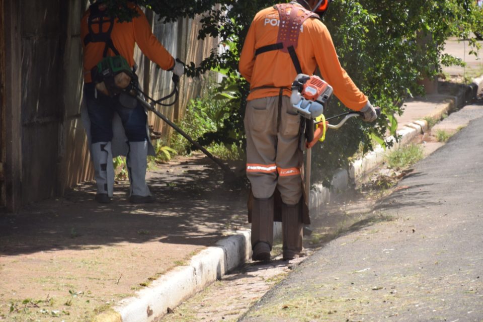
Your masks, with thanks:
M128 142L129 152L126 166L131 184L131 203L152 203L154 198L146 185L147 170L147 141Z

